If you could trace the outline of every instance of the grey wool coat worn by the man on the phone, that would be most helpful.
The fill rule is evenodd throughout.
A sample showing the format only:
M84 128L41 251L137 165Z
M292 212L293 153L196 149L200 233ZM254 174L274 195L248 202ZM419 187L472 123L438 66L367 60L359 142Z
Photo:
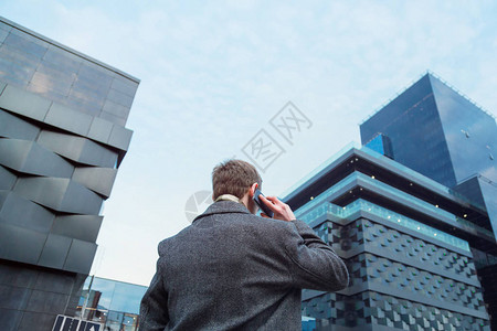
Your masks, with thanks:
M348 279L304 222L220 201L159 244L139 330L300 330L300 290L336 291Z

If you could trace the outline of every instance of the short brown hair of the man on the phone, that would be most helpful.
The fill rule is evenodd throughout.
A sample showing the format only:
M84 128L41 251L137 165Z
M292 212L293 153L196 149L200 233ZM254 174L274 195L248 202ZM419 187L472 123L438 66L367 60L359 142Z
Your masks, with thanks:
M222 194L232 194L242 199L253 183L257 183L261 188L261 175L254 166L242 160L228 160L212 170L214 200Z

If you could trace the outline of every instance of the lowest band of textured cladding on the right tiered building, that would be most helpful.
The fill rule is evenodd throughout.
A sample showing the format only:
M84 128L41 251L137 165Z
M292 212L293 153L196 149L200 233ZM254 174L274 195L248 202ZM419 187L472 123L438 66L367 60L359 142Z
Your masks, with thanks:
M316 318L317 330L490 330L485 319L374 291L315 297L303 314Z

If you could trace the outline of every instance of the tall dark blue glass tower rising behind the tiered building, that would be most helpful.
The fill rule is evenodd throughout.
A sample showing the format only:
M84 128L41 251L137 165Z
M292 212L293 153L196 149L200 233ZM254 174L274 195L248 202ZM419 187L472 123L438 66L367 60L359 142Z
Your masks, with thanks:
M427 73L366 120L360 130L362 145L487 211L488 218L470 221L497 235L497 125L491 115ZM493 281L497 250L490 246L474 255L497 329L497 287Z

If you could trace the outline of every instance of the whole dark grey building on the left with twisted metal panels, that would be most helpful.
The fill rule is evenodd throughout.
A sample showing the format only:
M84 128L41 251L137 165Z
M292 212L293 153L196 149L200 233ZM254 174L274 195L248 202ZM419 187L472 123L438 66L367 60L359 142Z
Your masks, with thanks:
M0 330L74 316L138 84L0 18Z

